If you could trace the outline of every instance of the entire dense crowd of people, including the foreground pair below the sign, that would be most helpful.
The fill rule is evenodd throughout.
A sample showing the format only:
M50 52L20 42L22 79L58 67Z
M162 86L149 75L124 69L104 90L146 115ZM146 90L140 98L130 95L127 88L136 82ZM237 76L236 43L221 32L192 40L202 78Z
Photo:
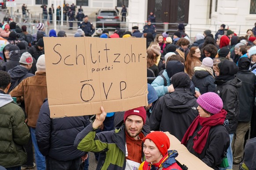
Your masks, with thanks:
M215 170L233 164L256 169L248 149L256 141L255 29L238 37L223 24L215 36L205 30L192 43L183 24L172 35L157 34L153 17L143 32L133 26L112 35L95 31L87 15L81 18L74 37L145 38L148 106L116 113L101 107L95 116L51 119L42 38L66 32L51 29L47 35L38 23L31 35L26 25L1 25L0 166L88 170L88 152L95 152L98 170L185 169L176 162L178 152L169 150L166 131Z

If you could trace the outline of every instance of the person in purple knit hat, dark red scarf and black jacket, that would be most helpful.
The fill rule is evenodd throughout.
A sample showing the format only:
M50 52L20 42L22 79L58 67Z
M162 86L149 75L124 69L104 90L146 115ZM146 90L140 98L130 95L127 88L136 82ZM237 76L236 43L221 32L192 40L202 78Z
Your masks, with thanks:
M181 143L189 152L201 159L214 170L219 170L224 152L230 145L226 127L223 126L227 111L222 99L214 92L198 97L199 115L192 122Z

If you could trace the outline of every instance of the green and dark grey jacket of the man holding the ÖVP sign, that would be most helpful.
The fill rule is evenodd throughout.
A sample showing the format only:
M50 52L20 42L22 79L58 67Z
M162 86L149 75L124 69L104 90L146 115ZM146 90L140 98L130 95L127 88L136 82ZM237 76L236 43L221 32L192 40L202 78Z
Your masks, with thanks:
M77 135L74 146L85 152L106 151L106 159L98 162L97 167L100 170L125 170L125 124L113 131L102 131L96 134L96 130L92 128L92 123L89 124ZM144 135L146 136L145 133Z

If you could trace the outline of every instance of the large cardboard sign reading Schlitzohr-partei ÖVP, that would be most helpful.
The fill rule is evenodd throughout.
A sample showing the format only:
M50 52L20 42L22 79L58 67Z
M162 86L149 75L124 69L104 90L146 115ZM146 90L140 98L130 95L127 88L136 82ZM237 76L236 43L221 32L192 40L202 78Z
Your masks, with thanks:
M147 105L146 39L44 37L51 117Z

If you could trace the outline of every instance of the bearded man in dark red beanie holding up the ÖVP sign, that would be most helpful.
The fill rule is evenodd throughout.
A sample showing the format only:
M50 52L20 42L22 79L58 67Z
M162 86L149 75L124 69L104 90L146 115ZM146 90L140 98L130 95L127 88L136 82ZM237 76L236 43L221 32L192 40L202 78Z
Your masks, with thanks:
M74 146L84 152L106 152L104 159L99 158L97 170L138 169L144 157L142 143L146 134L142 128L146 122L145 108L142 106L127 110L120 128L96 134L106 117L103 107L101 111L77 135Z

